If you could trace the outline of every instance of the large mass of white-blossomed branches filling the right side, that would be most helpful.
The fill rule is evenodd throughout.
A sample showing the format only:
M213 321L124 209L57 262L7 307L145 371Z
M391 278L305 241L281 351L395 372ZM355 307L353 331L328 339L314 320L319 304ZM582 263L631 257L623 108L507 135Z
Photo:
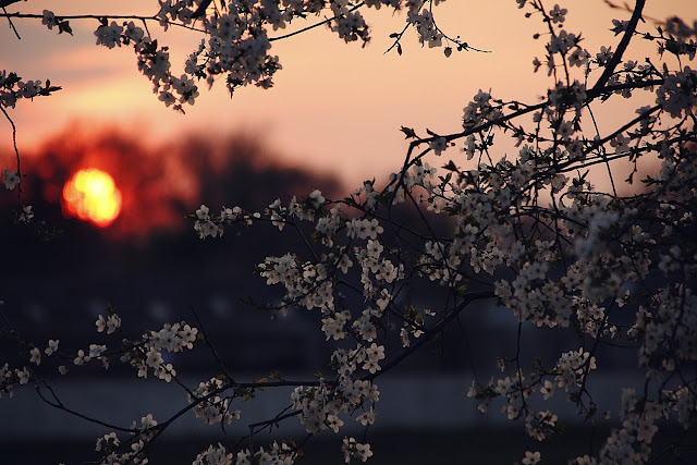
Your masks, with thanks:
M268 257L258 266L259 273L267 284L284 287L279 307L319 310L327 341L358 342L353 348L342 345L332 355L334 379L295 389L294 407L302 412L301 421L309 432L339 431L342 405L360 405L347 394L350 381L354 387L362 380L372 381L381 372L382 357L401 357L399 353L390 357L381 344L383 334L399 328L402 348L411 350L414 341L420 343L444 322L453 307L460 308L457 303L466 301L469 287L480 289L484 278L479 274L493 277L484 280L491 290L486 295L510 309L519 325L573 327L583 334L580 347L568 347L551 365L536 362L530 369L517 355L502 358L500 367L509 369L506 376L475 383L469 390L480 411L502 401L502 413L511 420L523 420L527 435L537 441L560 429L554 412L533 409L533 396L547 401L563 390L578 412L594 418L597 407L587 379L602 371L598 347L629 341L639 351L637 366L646 371L651 389L640 396L625 390L621 401L625 407L614 414L620 427L598 457L576 461L645 461L658 421L677 419L693 427L697 386L687 372L697 358L693 290L697 245L690 235L697 140L689 130L697 98L695 72L687 65L672 70L664 65L661 71L650 61L639 65L619 59L624 50L611 47L591 53L580 47L579 34L562 28L566 9L547 10L539 1L518 4L528 4L547 26L547 65L554 82L541 103L504 101L480 90L465 106L462 133L418 137L403 127L413 139L411 154L419 146L426 149L409 157L381 191L375 182L366 182L347 198L322 196L323 201L306 204L301 213L295 199L288 207L276 200L253 221L301 232L305 231L301 223L314 224L310 237L316 248L309 258L301 258L299 250ZM681 24L672 20L670 33L647 33L643 38L661 44L662 51L689 58L694 30ZM636 22L614 25L616 34L623 35L634 34L637 27ZM678 41L684 46L672 45ZM541 63L535 60L534 65ZM571 74L574 68L576 76ZM627 99L635 91L653 93L656 106L637 108L634 120L607 134L585 131L582 122L592 113L596 100ZM531 117L531 125L518 122L526 115ZM505 133L517 139L517 157L492 160L493 140ZM460 168L453 160L443 167L445 175L436 176L440 171L431 168L426 156L442 157L458 139L475 167ZM585 173L610 159L637 166L637 160L649 156L658 157L662 166L658 175L641 180L641 194L619 195L614 179L611 192L597 191ZM627 185L635 173L625 181ZM405 203L450 217L451 235L396 227L389 211ZM423 220L428 227L430 220ZM223 216L210 221L216 225L235 222ZM197 231L200 234L200 225ZM415 247L420 247L420 254L405 252L407 237L411 246L420 243ZM399 311L395 284L408 286L402 281L420 278L449 290L452 303L436 311L408 306ZM346 306L339 298L344 287L372 305L362 311ZM633 325L622 322L627 315L634 316ZM391 322L398 316L399 326ZM667 383L673 388L667 389ZM612 418L609 414L603 420ZM367 457L354 442L344 441L346 458ZM540 460L539 452L528 451L523 462Z

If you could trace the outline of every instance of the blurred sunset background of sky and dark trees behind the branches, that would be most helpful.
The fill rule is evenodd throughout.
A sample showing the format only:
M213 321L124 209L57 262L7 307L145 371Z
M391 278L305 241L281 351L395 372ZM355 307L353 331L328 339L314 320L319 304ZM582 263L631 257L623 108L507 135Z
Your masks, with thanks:
M30 0L8 10L154 14L157 4L151 3ZM566 29L583 33L583 46L592 53L619 40L608 30L612 19L628 17L602 0L575 0L562 7L570 10ZM697 4L649 1L649 20L641 27L650 29L652 21L658 24L670 15L694 20ZM286 199L316 187L329 197L344 195L365 179L380 182L400 168L407 147L400 126L419 134L426 129L454 133L463 107L479 89L491 89L503 99L536 102L551 85L545 73L533 73L533 58L545 54L543 39L535 40L533 35L543 28L538 19L526 20L513 0L449 0L436 9L442 29L490 53L445 58L440 49L421 48L409 32L402 56L386 54L391 46L388 36L402 29L404 16L386 9L368 11L366 16L374 26L367 47L346 45L323 27L274 42L283 70L274 77L273 88L243 88L230 98L222 85L210 91L201 86L196 105L186 107L184 115L157 100L130 48L95 46L96 20L72 21L73 36L59 36L36 20L13 21L21 39L10 27L2 27L0 70L14 71L25 79L50 78L62 87L49 98L20 101L9 110L27 175L23 184L27 203L46 221L47 231L59 233L45 241L13 225L16 197L0 193L4 245L0 298L17 331L41 342L60 338L61 348L80 348L96 342L94 321L107 304L117 308L134 334L164 321L193 321L193 309L222 359L245 377L258 378L276 368L307 377L323 368L329 345L310 315L271 318L240 301L278 298L252 269L267 255L293 249L295 240L255 230L199 241L185 215L201 203L212 208L262 209L276 197ZM164 33L156 24L148 27L160 44L170 47L174 68L183 66L200 40L197 33L176 28ZM652 45L637 41L627 57L640 61L653 51ZM632 106L601 107L596 114L600 127L614 127L613 123L633 113L640 98L633 99ZM650 95L645 98L650 101ZM0 121L0 168L15 168L11 139L11 125ZM500 156L515 155L512 142L500 143ZM452 148L442 157L443 164L448 157L461 156ZM65 217L61 209L62 186L77 169L88 167L109 172L123 193L121 215L108 228ZM607 179L598 174L596 183L602 186ZM498 412L479 415L465 396L475 377L486 380L493 375L487 367L493 367L496 355L511 353L515 328L510 315L490 305L473 308L439 345L425 348L386 378L378 406L380 426L372 428L375 463L519 460L523 431L506 429ZM554 350L577 348L570 334L526 331L528 339L538 338ZM3 340L0 347L0 354L11 358L13 346ZM634 376L629 362L612 363L616 378L601 380L597 387L612 396L609 405L619 396L616 386ZM204 351L178 359L176 368L186 374L189 384L218 374ZM132 382L127 370L118 367L114 379L105 381L95 368L74 382L54 381L71 405L121 424L149 411L164 418L185 402L176 388L155 380ZM12 402L0 400L1 463L94 458L85 452L91 449L85 443L106 432L105 428L42 405L30 390L15 396ZM265 393L250 406L249 418L273 416L286 399L288 392ZM244 425L230 430L232 437L243 435ZM571 435L575 439L552 443L548 456L562 456L570 448L583 454L592 441L597 446L603 432L573 423L568 428L576 431ZM286 432L303 436L297 427ZM362 432L347 427L346 433ZM193 417L183 418L173 438L175 442L160 446L154 463L191 462L205 440L231 440L219 428L205 428ZM342 463L333 438L326 435L314 441L305 463ZM315 462L311 448L322 451ZM172 450L175 455L170 454Z

